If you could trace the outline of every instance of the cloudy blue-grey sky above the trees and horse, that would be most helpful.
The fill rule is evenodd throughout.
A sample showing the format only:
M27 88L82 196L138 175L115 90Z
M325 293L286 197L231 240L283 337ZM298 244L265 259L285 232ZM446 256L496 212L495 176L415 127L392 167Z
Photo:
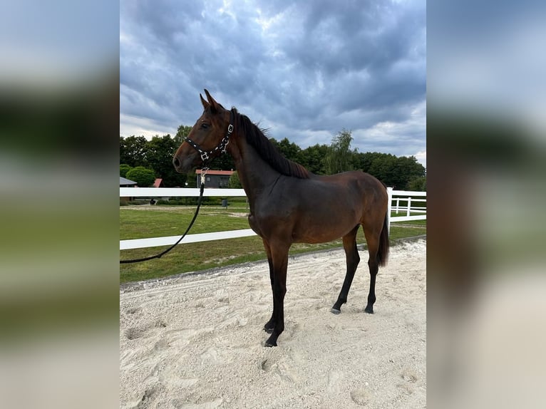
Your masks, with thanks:
M426 1L120 1L120 135L193 125L203 88L277 140L426 165Z

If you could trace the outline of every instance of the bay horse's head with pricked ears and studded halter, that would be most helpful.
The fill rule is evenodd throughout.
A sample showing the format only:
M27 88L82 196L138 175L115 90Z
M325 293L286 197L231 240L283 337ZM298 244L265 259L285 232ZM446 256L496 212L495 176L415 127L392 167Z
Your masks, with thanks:
M217 103L209 91L205 90L205 94L207 100L199 94L205 108L202 115L172 158L177 172L186 173L193 167L205 164L225 152L229 143L233 130L230 124L231 113Z

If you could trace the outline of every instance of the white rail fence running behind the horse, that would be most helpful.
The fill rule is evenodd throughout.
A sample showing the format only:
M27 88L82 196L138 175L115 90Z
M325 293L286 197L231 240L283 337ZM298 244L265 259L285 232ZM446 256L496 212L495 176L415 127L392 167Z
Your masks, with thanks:
M404 222L408 220L426 220L426 207L416 206L416 202L426 202L426 192L408 192L405 190L393 190L387 187L389 196L388 214L391 212L403 212L405 216L390 217L388 229L391 229L391 222ZM246 193L242 189L205 189L203 197L244 197ZM120 187L120 197L199 197L199 189L184 187ZM395 205L393 205L393 202ZM401 207L400 203L406 202ZM421 213L413 214L411 213ZM202 234L187 234L180 242L198 243L210 242L212 240L234 239L237 237L255 236L252 229L229 230L227 232L213 232ZM152 237L150 239L120 240L120 250L141 249L144 247L169 246L175 244L180 234L168 237Z

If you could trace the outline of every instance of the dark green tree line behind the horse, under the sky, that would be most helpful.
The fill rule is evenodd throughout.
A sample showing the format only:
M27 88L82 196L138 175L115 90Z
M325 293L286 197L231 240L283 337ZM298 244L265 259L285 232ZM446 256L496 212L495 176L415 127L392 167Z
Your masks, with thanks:
M138 182L141 187L152 185L155 177L162 178L165 187L186 186L186 183L188 187L195 187L195 174L182 175L172 166L172 157L191 129L180 125L174 137L170 134L155 135L151 140L143 136L120 136L120 176ZM353 138L350 130L341 130L330 145L316 144L305 149L287 138L269 140L287 159L304 165L316 175L362 170L395 189L426 190L426 170L416 157L351 149ZM217 157L212 167L235 170L230 155Z

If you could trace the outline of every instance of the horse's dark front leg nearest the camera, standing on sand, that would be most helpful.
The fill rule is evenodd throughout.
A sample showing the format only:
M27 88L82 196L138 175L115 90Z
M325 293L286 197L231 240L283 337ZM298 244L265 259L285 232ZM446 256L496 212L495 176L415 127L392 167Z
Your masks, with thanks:
M284 331L284 294L287 294L287 268L288 268L288 249L281 246L272 247L272 266L273 266L273 315L266 323L272 326L272 333L269 339L265 341L264 346L277 346L277 338Z

